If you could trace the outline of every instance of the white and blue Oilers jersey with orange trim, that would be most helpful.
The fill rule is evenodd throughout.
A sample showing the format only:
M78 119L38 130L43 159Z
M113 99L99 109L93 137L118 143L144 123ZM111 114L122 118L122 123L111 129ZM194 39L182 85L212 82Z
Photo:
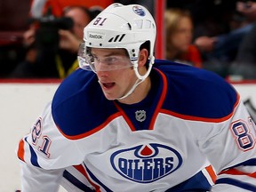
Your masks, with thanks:
M20 140L21 190L256 191L255 124L234 88L164 60L150 78L125 105L92 72L68 76Z

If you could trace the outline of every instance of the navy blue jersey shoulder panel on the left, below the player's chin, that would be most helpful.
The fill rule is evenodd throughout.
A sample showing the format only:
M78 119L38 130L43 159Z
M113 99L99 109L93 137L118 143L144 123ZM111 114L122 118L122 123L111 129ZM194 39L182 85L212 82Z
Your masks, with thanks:
M102 110L102 108L107 110ZM52 100L52 117L60 132L78 139L97 129L116 113L92 71L77 69L58 87Z

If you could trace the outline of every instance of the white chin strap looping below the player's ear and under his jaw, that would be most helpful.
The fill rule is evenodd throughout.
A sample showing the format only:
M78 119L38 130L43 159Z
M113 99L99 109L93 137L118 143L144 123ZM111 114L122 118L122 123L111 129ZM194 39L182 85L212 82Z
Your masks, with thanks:
M138 79L136 80L135 84L133 84L132 88L130 89L129 92L127 92L126 94L124 94L124 96L120 97L120 98L116 98L116 100L123 100L124 98L128 97L129 95L132 94L132 92L136 89L136 87L141 84L149 75L151 68L154 64L154 60L155 57L152 56L149 60L149 64L148 64L148 71L144 76L140 76L140 73L138 71L138 60L133 61L133 69L135 71L136 76L138 77Z

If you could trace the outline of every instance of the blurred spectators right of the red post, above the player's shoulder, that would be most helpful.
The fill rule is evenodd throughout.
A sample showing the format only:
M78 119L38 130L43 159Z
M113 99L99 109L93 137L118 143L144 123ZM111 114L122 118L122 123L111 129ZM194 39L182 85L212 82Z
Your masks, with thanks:
M181 59L184 63L212 70L230 80L256 79L255 2L168 1L168 7L164 18L167 23L167 59ZM176 29L170 28L170 12L172 26ZM176 46L172 45L173 42ZM183 49L179 44L183 44ZM182 53L182 58L178 54L174 57L170 46L172 50L176 48L180 55ZM168 56L170 52L172 58Z

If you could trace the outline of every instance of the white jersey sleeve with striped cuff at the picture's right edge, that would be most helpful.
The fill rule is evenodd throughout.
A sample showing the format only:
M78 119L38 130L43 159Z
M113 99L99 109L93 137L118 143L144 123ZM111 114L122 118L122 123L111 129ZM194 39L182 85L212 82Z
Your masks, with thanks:
M212 191L256 191L256 129L243 101L212 127L199 144L218 173Z

